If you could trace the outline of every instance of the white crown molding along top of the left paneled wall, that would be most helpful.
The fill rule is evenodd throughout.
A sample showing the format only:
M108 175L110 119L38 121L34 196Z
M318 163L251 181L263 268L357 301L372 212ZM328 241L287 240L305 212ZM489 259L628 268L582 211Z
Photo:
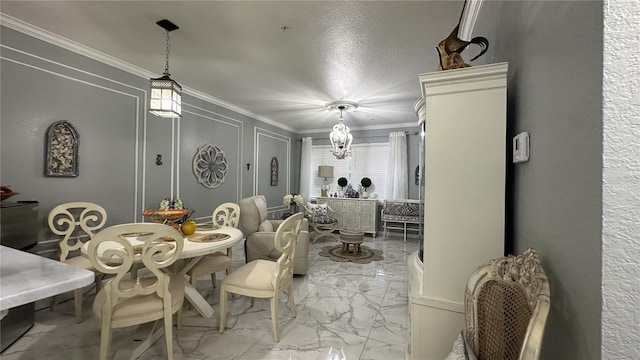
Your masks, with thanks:
M143 69L141 67L132 65L128 62L122 61L118 58L115 58L111 55L107 55L103 52L97 51L93 48L90 48L86 45L82 45L78 42L69 40L67 38L64 38L60 35L54 34L50 31L47 31L45 29L39 28L35 25L29 24L27 22L24 22L20 19L14 18L13 16L4 14L2 12L0 12L0 25L2 26L6 26L10 29L16 30L18 32L21 32L23 34L29 35L31 37L34 37L36 39L48 42L50 44L53 44L55 46L61 47L63 49L72 51L76 54L80 54L82 56L88 57L90 59L99 61L101 63L104 63L106 65L109 66L113 66L117 69L126 71L130 74L142 77L142 78L152 78L152 77L156 77L157 74L153 73L149 70ZM286 131L290 131L293 133L297 133L297 129L294 129L292 127L280 124L272 119L269 119L265 116L262 115L258 115L256 113L253 113L247 109L241 108L237 105L228 103L224 100L218 99L216 97L213 97L211 95L205 94L202 91L196 90L196 89L192 89L189 87L183 87L182 88L182 92L184 94L188 94L190 96L193 96L195 98L198 98L200 100L204 100L207 102L210 102L212 104L221 106L223 108L226 108L228 110L234 111L236 113L248 116L250 118L256 119L258 121L261 121L263 123L275 126L277 128L280 128L282 130L286 130Z

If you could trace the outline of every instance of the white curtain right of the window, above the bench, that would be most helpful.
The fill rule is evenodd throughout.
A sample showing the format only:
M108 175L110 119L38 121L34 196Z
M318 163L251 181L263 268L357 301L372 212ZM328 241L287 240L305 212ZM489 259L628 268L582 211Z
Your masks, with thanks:
M389 172L387 199L406 199L409 195L407 175L407 135L404 131L389 134Z

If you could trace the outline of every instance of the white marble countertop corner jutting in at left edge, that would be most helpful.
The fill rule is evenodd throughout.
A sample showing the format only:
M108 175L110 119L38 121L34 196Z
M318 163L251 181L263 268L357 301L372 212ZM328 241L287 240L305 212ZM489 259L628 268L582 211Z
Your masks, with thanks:
M94 276L89 270L0 246L0 310L89 285Z

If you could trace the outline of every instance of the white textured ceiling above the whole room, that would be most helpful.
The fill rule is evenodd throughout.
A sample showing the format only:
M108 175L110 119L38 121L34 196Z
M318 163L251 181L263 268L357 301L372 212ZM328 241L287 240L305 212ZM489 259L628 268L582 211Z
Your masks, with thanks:
M7 1L0 11L298 132L417 125L418 74L460 17L450 1ZM286 26L283 31L281 26Z

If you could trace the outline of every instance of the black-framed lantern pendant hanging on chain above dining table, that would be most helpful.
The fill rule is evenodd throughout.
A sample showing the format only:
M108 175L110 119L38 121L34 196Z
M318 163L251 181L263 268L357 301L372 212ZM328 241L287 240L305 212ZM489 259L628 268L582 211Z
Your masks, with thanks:
M156 24L167 31L167 51L164 74L151 79L151 96L149 98L149 112L166 118L182 116L182 87L169 76L169 32L179 29L171 21L164 19Z

